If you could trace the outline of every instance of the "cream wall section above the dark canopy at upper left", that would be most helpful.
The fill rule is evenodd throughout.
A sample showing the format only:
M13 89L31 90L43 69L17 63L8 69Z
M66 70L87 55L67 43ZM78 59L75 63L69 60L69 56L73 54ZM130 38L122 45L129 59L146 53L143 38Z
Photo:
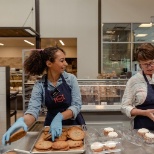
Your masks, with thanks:
M24 26L35 29L34 2L34 0L0 0L0 27ZM34 10L30 13L32 7Z

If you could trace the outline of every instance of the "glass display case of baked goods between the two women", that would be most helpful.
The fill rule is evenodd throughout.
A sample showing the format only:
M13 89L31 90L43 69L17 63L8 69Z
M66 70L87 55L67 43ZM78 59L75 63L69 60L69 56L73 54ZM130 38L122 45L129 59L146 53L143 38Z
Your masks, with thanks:
M120 110L127 79L78 79L78 83L82 110Z

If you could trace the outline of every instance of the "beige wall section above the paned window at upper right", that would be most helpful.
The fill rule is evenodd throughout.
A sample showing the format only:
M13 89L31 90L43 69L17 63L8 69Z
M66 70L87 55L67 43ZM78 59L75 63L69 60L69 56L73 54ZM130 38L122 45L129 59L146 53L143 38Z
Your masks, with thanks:
M102 0L102 22L150 22L154 0Z

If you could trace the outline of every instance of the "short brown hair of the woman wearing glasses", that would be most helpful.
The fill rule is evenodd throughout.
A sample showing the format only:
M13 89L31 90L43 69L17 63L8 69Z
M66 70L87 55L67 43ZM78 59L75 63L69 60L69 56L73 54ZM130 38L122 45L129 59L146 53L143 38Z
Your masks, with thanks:
M143 43L136 49L137 61L154 59L154 46L151 43Z

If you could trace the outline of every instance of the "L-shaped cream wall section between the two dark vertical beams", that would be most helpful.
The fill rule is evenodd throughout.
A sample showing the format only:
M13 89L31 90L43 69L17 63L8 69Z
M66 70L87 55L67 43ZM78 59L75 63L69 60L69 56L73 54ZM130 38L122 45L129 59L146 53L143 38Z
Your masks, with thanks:
M78 78L98 74L98 1L41 0L41 37L77 38Z

